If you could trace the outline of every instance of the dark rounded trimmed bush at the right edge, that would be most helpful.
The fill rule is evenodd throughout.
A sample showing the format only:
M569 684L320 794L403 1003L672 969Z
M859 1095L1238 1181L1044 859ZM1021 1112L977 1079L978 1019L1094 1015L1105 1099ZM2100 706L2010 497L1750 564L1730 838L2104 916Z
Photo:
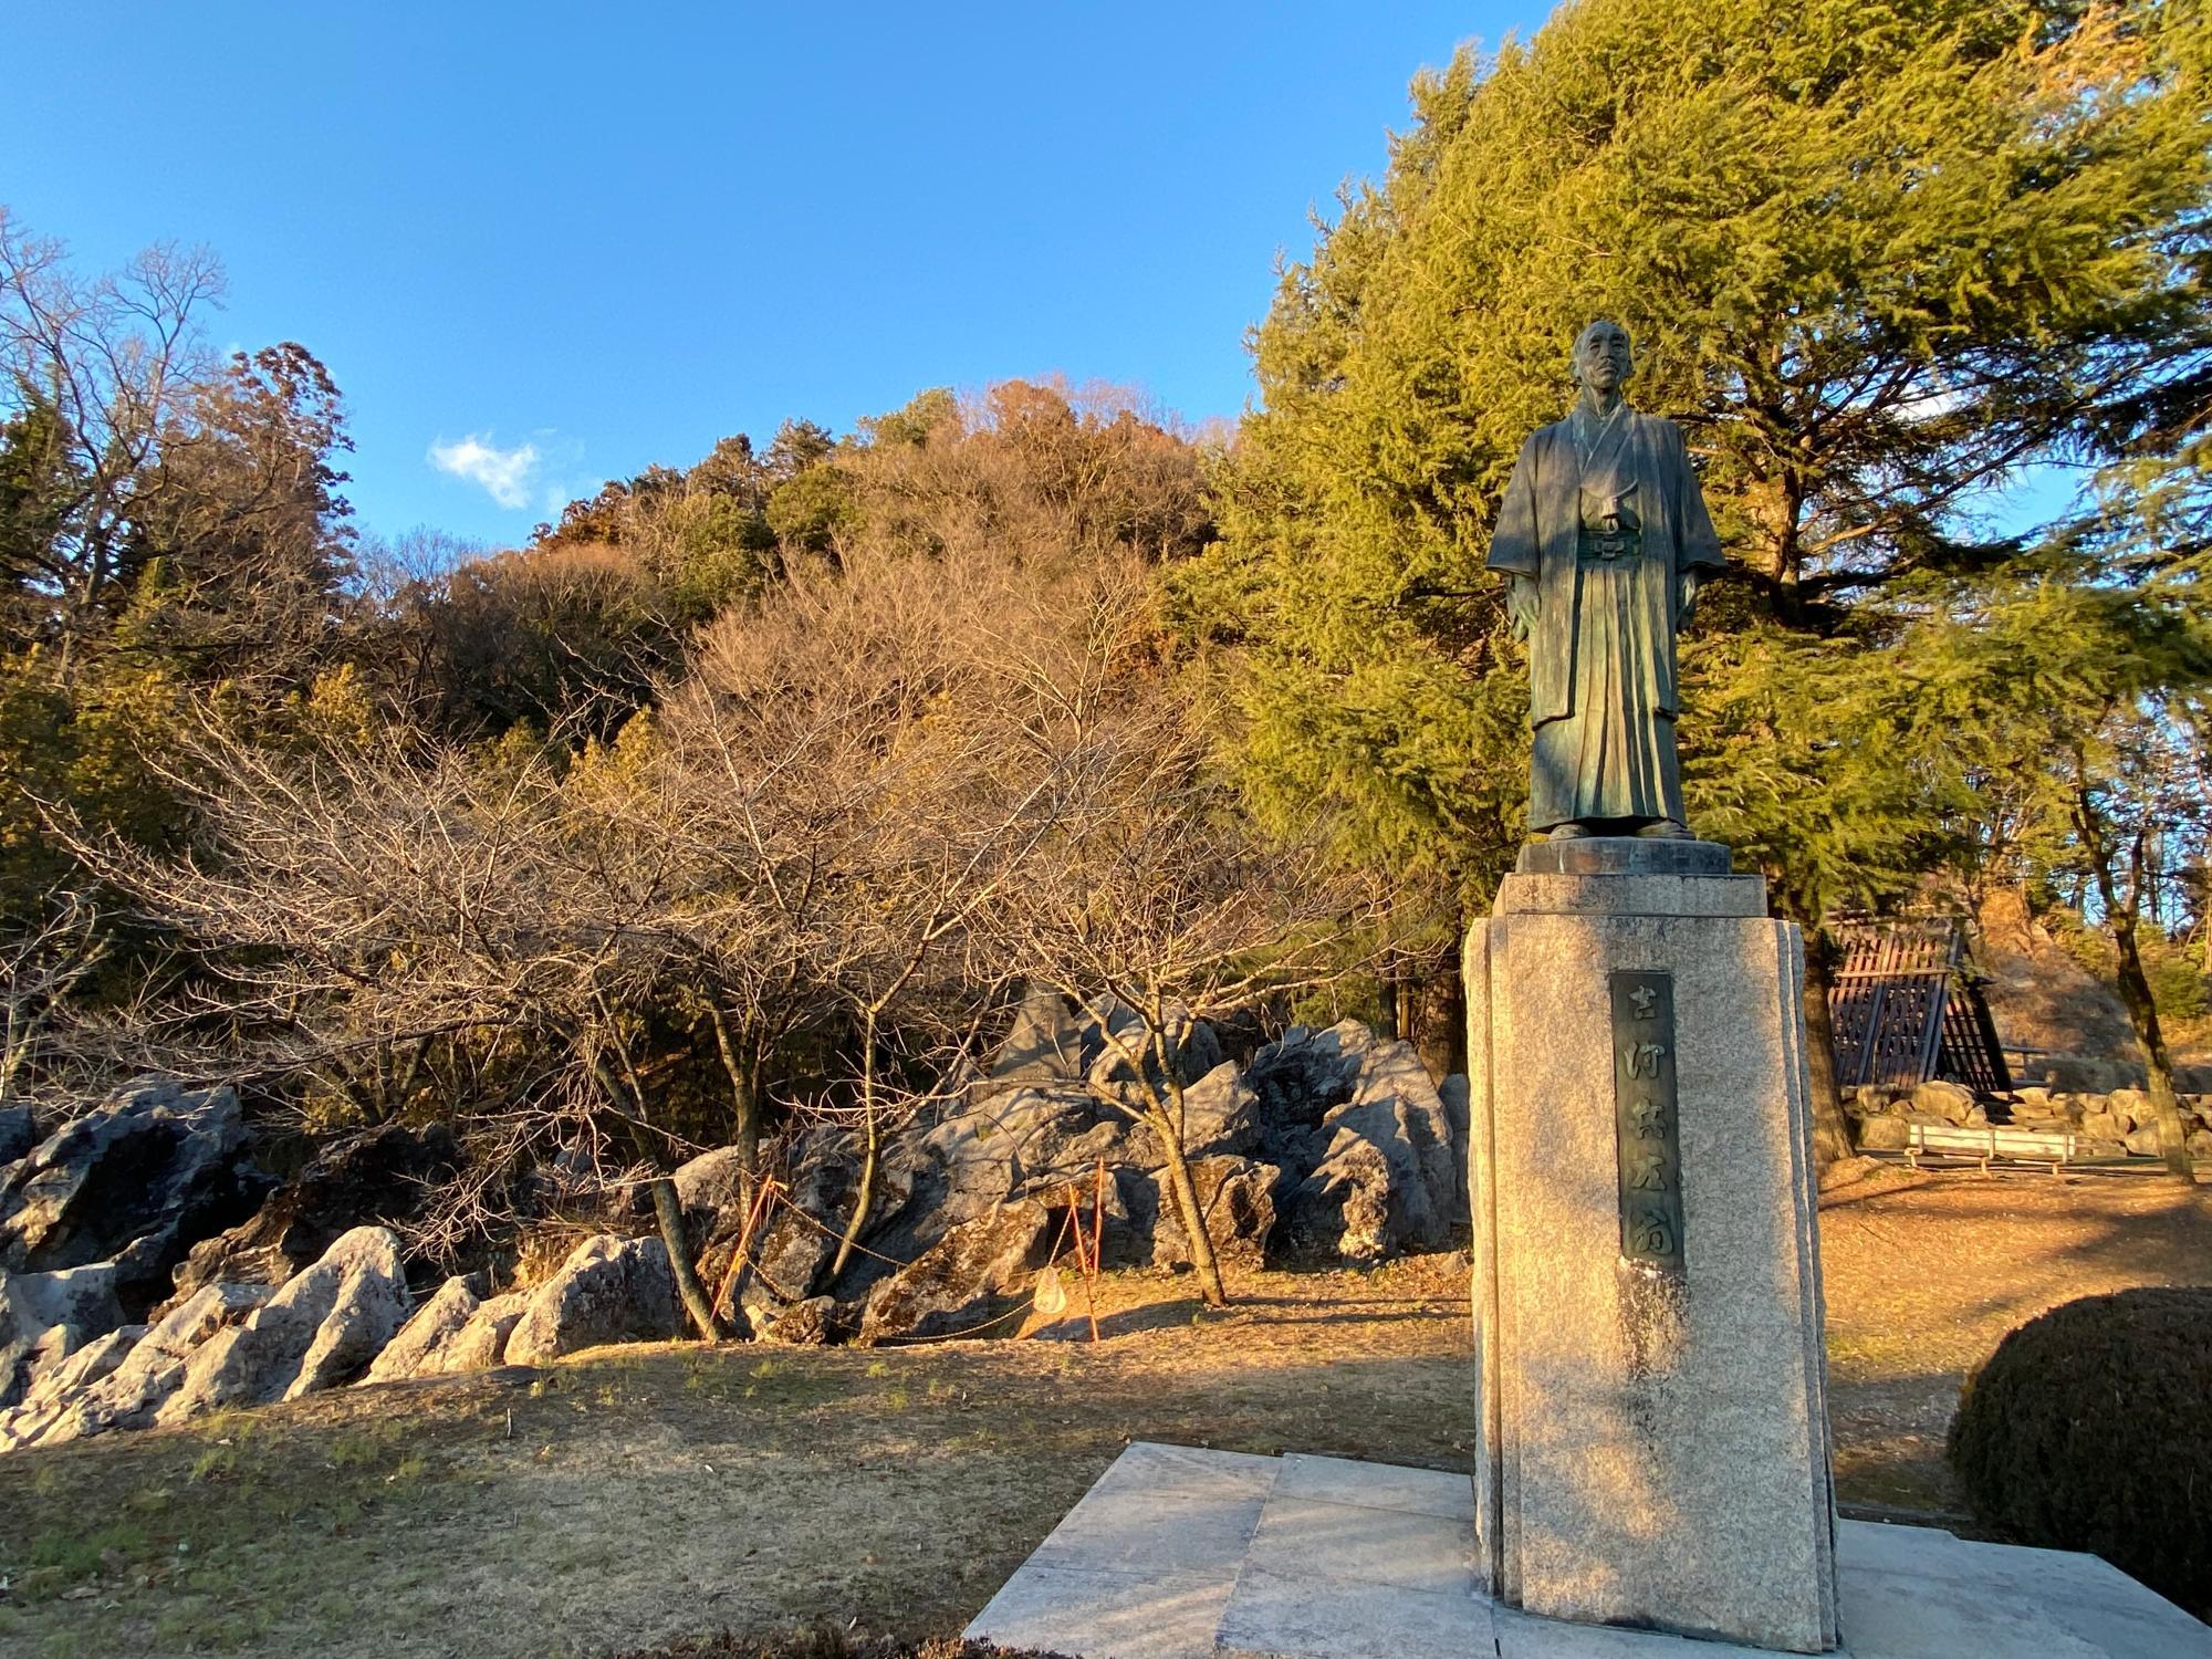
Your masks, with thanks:
M1966 1378L1949 1451L1991 1531L2093 1551L2203 1617L2212 1287L2121 1290L2031 1318Z

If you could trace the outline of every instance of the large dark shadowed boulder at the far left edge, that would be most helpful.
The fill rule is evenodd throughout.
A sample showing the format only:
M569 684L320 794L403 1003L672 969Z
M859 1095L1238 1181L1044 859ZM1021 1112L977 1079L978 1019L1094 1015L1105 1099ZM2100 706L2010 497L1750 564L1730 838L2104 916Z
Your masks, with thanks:
M270 1181L228 1088L133 1086L64 1124L0 1175L0 1265L115 1263L126 1307L166 1294L186 1248L252 1210Z

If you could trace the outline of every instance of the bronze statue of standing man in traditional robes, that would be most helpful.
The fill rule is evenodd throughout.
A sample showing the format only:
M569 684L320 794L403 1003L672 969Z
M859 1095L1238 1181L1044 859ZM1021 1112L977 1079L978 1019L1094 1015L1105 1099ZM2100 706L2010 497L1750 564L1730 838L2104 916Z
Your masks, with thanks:
M1582 398L1522 445L1489 566L1528 641L1528 830L1686 838L1674 759L1674 630L1721 538L1681 429L1621 403L1628 330L1575 341Z

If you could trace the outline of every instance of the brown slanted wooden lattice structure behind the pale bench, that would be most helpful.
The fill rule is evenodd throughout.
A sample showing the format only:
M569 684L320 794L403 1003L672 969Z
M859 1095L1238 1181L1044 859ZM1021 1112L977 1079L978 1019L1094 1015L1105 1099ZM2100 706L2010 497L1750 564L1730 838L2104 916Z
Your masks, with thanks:
M1843 962L1827 1006L1838 1084L1911 1088L1949 1077L1984 1095L2013 1086L1955 920L1863 922L1836 933Z

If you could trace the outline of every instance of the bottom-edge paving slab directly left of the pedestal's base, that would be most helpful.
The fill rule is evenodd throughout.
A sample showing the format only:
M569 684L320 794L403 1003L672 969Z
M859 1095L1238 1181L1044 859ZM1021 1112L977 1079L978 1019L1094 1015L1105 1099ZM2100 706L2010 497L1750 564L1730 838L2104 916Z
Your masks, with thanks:
M1376 1511L1367 1511L1376 1513ZM1316 1579L1248 1566L1237 1579L1219 1659L1486 1659L1491 1604L1464 1593Z

